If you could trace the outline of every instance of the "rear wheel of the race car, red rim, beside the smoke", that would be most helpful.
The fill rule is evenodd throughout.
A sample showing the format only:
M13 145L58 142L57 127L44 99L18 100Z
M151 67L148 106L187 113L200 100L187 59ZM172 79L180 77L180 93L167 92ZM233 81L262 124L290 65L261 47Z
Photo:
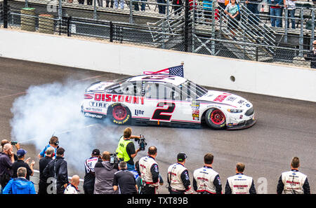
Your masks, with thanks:
M131 111L129 111L129 108L119 103L110 105L107 115L112 123L117 125L124 125L131 122Z

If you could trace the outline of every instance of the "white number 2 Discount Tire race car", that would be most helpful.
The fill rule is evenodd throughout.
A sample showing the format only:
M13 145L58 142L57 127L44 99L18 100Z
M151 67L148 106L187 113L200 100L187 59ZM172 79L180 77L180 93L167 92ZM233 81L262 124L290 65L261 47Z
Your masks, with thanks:
M84 116L124 125L206 123L214 129L240 129L256 123L251 102L228 92L206 90L186 78L150 74L90 85L81 103Z

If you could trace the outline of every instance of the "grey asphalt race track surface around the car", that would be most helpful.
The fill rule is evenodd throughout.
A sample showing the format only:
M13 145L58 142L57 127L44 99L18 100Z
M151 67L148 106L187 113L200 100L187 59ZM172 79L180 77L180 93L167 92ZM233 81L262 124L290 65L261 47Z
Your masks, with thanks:
M0 139L11 139L10 120L13 118L11 107L17 97L25 95L31 85L42 85L54 81L63 82L72 77L78 81L99 81L120 78L122 75L61 67L37 62L11 60L0 57ZM282 83L280 83L282 88ZM203 165L205 153L213 153L213 169L220 174L223 192L226 179L235 174L237 162L246 165L245 174L254 178L258 193L276 193L277 181L282 172L290 169L294 156L301 160L301 172L307 174L312 193L316 193L316 104L294 99L284 99L246 92L234 92L249 99L254 104L257 123L245 130L211 130L201 128L133 126L133 134L144 134L149 146L158 148L157 162L165 181L159 188L160 193L168 193L166 172L169 165L176 161L179 152L187 153L185 166L189 169L192 181L193 171ZM310 92L315 93L315 92ZM100 151L114 151L117 144L104 139L104 132L112 131L121 135L126 126L105 125L91 120L96 131L100 131L98 148ZM70 144L67 144L70 145ZM67 145L66 152L67 152ZM136 144L137 145L137 144ZM32 144L21 144L36 161L41 149ZM135 161L145 155L138 153ZM90 155L86 155L88 158ZM65 154L67 160L67 153ZM85 158L82 158L83 160ZM84 176L84 164L81 172L69 167L69 175ZM266 181L266 186L265 182ZM265 187L267 188L265 191Z

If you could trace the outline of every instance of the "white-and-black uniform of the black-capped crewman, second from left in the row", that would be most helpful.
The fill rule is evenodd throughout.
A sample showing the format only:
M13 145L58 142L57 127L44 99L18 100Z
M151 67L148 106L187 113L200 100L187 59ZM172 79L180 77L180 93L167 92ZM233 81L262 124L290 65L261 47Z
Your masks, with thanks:
M193 193L187 168L176 162L168 168L169 192L171 194Z

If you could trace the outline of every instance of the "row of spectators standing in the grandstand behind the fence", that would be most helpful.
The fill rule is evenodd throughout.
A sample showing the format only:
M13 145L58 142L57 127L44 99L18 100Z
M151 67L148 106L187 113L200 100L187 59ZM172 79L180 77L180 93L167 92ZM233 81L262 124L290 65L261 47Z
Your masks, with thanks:
M232 19L232 21L239 20L241 13L239 4L244 4L246 8L251 12L249 15L249 22L258 25L258 20L260 20L259 7L263 6L261 4L262 1L263 0L216 0L216 3L218 7L223 8L223 10L227 11L226 15L228 15L228 18ZM267 0L267 4L269 7L269 17L272 27L282 27L282 16L285 14L284 10L287 9L287 27L289 28L289 24L291 22L291 29L296 28L296 1L297 0ZM73 0L68 0L68 2L73 2ZM93 5L93 0L86 0L86 3L84 0L78 0L78 3ZM103 0L97 0L96 3L99 7L103 7ZM129 3L129 1L124 0L106 0L105 7L124 9L124 4L127 4L129 6ZM193 8L193 4L195 4L195 8L197 8L197 6L201 6L199 8L203 8L205 20L209 21L209 19L211 19L210 17L212 12L213 0L189 0L190 10ZM132 1L133 10L135 11L145 11L146 5L149 7L147 0ZM168 5L171 6L171 8L173 9L174 15L177 15L183 9L184 1L172 0L167 4L166 0L157 0L157 5L155 6L158 8L159 13L166 14L166 7Z

